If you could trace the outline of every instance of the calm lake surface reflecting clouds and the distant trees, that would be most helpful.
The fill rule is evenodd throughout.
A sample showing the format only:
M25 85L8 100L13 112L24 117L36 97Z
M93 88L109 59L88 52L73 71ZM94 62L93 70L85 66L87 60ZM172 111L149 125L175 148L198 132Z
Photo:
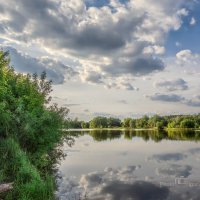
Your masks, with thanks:
M67 138L59 199L200 199L198 131L73 131Z

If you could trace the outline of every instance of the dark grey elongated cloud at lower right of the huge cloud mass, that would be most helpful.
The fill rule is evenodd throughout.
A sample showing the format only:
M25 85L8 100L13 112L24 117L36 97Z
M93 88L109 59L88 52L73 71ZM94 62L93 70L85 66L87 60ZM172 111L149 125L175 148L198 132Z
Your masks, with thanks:
M131 74L143 76L155 71L162 71L164 63L159 58L144 56L142 58L131 58L129 61L115 61L112 65L104 66L103 70L109 74Z

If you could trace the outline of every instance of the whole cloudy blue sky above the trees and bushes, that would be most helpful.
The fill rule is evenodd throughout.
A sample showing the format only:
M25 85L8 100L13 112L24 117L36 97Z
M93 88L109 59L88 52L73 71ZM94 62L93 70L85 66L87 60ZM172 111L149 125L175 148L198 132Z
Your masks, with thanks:
M0 44L71 118L200 112L200 0L7 0Z

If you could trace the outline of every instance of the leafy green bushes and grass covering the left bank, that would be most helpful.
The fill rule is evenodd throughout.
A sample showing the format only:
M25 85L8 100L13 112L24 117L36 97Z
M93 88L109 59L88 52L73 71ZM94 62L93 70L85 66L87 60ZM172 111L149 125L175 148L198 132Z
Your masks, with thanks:
M50 105L46 74L17 74L0 51L0 184L5 200L54 199L54 164L68 110ZM27 66L28 67L28 66Z

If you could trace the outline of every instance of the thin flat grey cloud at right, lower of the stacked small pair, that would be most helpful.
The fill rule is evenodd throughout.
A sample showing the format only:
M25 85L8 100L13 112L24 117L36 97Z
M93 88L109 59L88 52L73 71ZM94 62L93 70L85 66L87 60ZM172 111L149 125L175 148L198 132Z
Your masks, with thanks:
M185 98L176 94L160 94L156 93L152 96L147 96L152 101L163 101L163 102L182 102Z

